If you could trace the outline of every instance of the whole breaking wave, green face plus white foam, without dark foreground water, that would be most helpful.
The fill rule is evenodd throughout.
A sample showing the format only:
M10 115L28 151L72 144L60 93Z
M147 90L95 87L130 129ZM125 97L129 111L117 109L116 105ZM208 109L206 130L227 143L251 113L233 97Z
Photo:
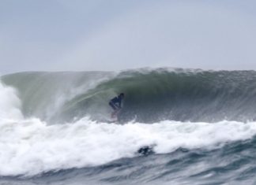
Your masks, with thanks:
M234 118L232 110L250 120L245 108L249 113L253 109L249 98L255 76L183 70L2 76L0 176L104 165L139 156L144 146L168 154L179 148L213 150L239 140L255 142L254 121L224 120ZM111 112L107 100L121 91L126 102L119 119L125 124L100 121Z

